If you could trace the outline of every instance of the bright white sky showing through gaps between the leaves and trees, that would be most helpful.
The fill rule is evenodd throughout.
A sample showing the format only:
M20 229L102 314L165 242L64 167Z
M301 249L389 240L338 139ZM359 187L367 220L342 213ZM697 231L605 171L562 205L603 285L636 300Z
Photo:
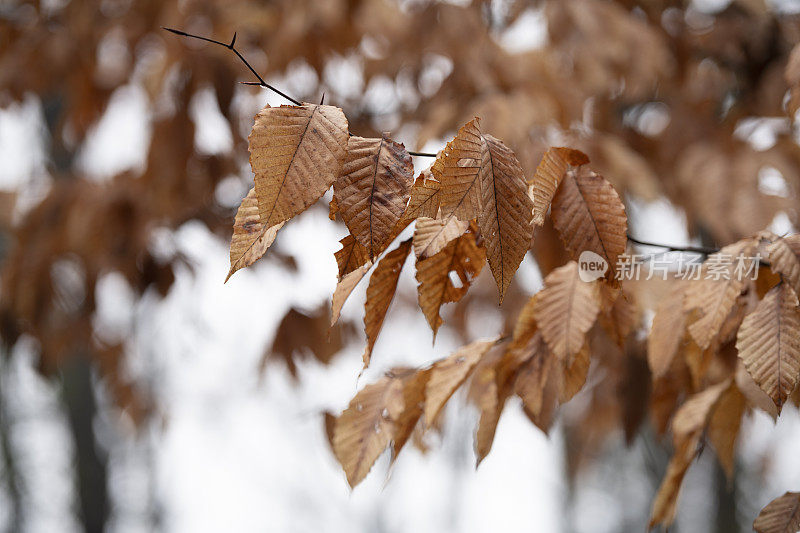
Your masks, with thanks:
M541 23L540 15L531 10L498 40L514 50L540 46L546 39ZM353 78L340 80L342 91L354 84L360 87L360 71L353 70L352 62L343 65L338 71ZM337 70L333 70L326 76L335 78ZM280 81L287 87L302 83L294 78ZM252 108L251 114L266 101L283 103L266 94L257 98L248 94L240 89L235 105ZM373 99L380 102L380 94ZM41 177L47 142L42 137L41 113L34 97L0 110L0 188L21 188L27 199L23 209L47 190L48 180ZM150 134L149 113L135 81L120 88L82 148L80 168L96 180L139 168ZM196 96L192 117L198 123L195 142L201 152L230 146L230 131L219 116L213 93ZM429 164L416 159L417 166ZM238 202L246 191L244 179L232 179L218 196ZM630 215L634 227L643 232L641 238L670 244L688 241L682 214L666 201L632 202ZM132 307L130 288L120 276L110 274L100 283L97 321L107 335L133 332L130 371L149 376L166 415L163 426L151 428L138 440L125 433L130 428L112 426L113 419L98 422L111 453L111 493L117 504L113 531L146 529L142 513L150 486L163 505L164 529L192 533L521 532L534 530L534 524L535 530L545 532L611 533L622 527L624 509L631 507L627 504L649 504L648 490L652 489L637 474L640 465L634 450L612 471L603 465L587 471L582 478L585 488L574 502L575 516L570 523L562 523L567 503L559 431L555 429L549 438L543 435L512 401L500 421L491 454L476 471L472 452L476 416L458 397L448 408L442 441L434 443L427 455L409 444L388 482L388 460L383 456L351 492L329 449L321 412L339 412L357 388L392 366L425 364L457 346L446 328L431 346L430 329L421 312L392 308L373 365L359 383L360 337L329 367L301 363L296 384L279 364L270 365L259 376L262 351L285 312L291 306L311 310L332 294L336 283L333 252L342 236L343 228L328 221L326 210L311 209L289 222L276 243L297 259L298 273L264 262L238 272L223 285L229 265L227 243L201 224L189 223L174 234L158 232L154 239L154 246L176 247L187 254L195 267L193 274L178 273L166 299L147 297ZM400 292L414 294L412 270L406 266ZM485 270L482 275L489 275ZM530 293L540 287L538 270L529 257L518 277ZM355 291L343 311L345 318L357 324L365 286ZM495 310L485 312L474 317L476 337L497 333ZM75 495L69 486L73 451L52 385L32 370L33 352L30 343L20 345L12 359L9 383L2 387L4 397L13 400L19 441L15 446L30 472L31 498L37 509L35 516L27 517L28 531L74 531L70 506ZM580 403L580 396L574 401ZM751 502L760 508L785 490L800 489L800 463L796 445L790 444L800 438L800 424L796 411L787 408L774 428L765 415L754 417L748 428L742 446L746 456L755 458L771 451L774 458L766 471L764 501ZM120 431L127 436L120 439ZM152 443L151 454L146 451L147 442ZM698 468L702 465L693 470ZM610 483L620 480L629 487L621 492L607 490ZM685 509L682 502L679 513ZM7 507L0 505L0 522L4 512Z

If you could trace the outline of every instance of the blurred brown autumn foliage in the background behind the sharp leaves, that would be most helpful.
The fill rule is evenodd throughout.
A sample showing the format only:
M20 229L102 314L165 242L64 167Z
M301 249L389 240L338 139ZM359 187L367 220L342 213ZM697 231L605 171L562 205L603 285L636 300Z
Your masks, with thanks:
M268 82L303 101L324 94L358 135L392 131L409 149L436 151L478 115L514 149L526 175L547 146L581 149L634 208L667 200L685 216L690 236L719 246L770 224L797 227L800 58L787 69L800 40L793 4L0 2L0 107L33 106L43 126L36 131L42 163L23 172L25 179L4 180L0 191L0 387L10 386L15 347L32 346L36 367L58 391L72 440L75 527L104 530L126 498L109 479L109 437L99 434L98 417L110 417L103 431L123 440L169 423L169 406L151 394L155 367L131 371L130 332L98 320L99 281L122 276L133 291L128 305L167 296L176 272L193 264L165 235L195 221L227 240L252 180L247 134L263 90L238 83L249 73L228 50L161 26L223 41L237 32L237 47ZM117 101L136 105L112 114ZM208 109L218 113L203 124ZM142 124L141 161L93 165L92 154L131 142L117 135L119 121ZM206 142L209 135L214 142ZM633 235L651 232L633 217ZM543 275L565 262L552 227L534 242ZM280 240L264 260L297 268ZM526 296L512 285L500 311L506 329ZM413 295L400 302L416 305ZM468 340L469 309L495 304L493 286L479 284L445 328ZM292 308L264 363L284 359L296 375L297 357L327 363L354 331L345 321L328 343L326 306ZM152 351L157 358L158 347ZM641 429L645 412L637 406L651 391L631 383L649 377L637 364L643 358L631 360L608 365L612 375L588 393L592 407L584 416L565 417L570 476L587 462L613 469L623 461L607 446L623 420L629 442L639 434L646 442L653 483L660 480L668 453L652 430ZM17 460L12 400L0 394L0 458L6 525L20 531L38 511ZM750 482L726 481L718 468L710 475L719 497L709 527L747 529L752 516L741 508L737 514L735 498L737 486ZM148 527L162 528L159 503L147 509ZM641 530L646 512L627 511L625 530Z

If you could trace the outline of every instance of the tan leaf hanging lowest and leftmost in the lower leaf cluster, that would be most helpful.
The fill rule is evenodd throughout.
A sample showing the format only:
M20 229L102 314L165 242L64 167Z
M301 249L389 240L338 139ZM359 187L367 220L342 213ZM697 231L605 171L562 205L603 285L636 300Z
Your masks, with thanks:
M369 473L394 436L405 403L403 382L385 376L367 385L350 401L333 428L333 453L351 487Z

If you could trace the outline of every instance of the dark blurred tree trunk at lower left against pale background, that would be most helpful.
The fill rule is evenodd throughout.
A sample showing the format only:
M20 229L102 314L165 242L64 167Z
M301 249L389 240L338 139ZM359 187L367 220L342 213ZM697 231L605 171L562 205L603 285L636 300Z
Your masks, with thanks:
M109 516L108 458L94 434L97 401L89 361L75 358L63 366L61 393L75 442L80 517L87 533L100 533Z

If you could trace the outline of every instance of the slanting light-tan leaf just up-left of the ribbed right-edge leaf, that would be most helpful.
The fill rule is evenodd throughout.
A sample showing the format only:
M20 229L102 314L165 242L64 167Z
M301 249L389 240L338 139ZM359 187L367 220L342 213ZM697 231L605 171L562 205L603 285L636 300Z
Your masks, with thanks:
M745 279L736 272L738 257L752 256L755 242L744 239L712 254L703 263L702 279L692 280L686 287L684 309L699 310L699 318L689 324L697 345L705 350L720 332L744 288ZM714 272L709 275L709 268Z

